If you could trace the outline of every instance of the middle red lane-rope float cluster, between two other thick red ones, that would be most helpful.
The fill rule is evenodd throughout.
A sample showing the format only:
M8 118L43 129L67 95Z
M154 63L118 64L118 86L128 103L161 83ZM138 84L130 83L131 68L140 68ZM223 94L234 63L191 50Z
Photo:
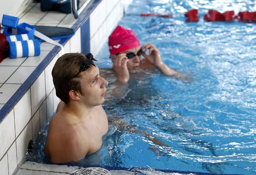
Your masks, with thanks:
M216 22L216 21L232 21L234 16L234 11L226 11L224 13L220 13L217 10L208 10L208 14L204 15L204 20L210 21L210 22Z

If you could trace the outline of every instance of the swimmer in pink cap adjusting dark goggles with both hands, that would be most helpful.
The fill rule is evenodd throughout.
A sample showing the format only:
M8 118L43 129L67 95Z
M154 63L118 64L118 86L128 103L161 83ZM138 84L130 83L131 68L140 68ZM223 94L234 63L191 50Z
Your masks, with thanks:
M164 75L175 76L177 74L162 61L159 49L153 44L146 43L140 46L140 41L132 30L117 26L108 37L108 46L110 59L113 61L113 70L119 82L126 83L130 78L130 73L152 67ZM145 59L141 59L141 55Z

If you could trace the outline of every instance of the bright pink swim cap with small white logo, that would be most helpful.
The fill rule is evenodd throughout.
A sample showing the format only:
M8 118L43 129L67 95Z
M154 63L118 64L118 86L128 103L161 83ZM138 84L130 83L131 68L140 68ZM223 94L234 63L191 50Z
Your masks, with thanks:
M140 41L134 32L122 26L117 26L108 37L108 49L111 55L137 46L140 46Z

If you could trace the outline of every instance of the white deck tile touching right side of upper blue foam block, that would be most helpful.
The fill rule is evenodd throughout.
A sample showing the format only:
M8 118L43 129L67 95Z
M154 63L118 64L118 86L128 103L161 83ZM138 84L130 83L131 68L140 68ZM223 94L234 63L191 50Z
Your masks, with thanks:
M25 22L30 25L36 25L46 13L44 12L28 12L19 20L19 24Z

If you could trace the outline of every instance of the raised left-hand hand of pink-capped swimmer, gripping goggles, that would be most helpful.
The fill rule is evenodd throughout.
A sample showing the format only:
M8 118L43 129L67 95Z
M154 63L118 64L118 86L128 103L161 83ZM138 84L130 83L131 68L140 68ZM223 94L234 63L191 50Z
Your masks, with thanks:
M114 59L110 57L113 61L113 70L118 81L126 83L130 79L130 74L127 67L128 58L125 53L120 53L114 55Z

